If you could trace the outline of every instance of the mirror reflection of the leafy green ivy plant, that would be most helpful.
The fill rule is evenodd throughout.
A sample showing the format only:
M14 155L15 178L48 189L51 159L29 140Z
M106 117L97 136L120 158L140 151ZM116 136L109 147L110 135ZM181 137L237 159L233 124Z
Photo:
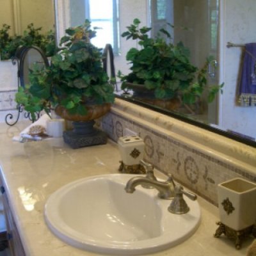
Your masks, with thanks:
M131 72L127 75L118 72L122 89L132 89L134 97L159 106L167 105L169 109L182 103L193 104L202 93L207 93L211 102L223 86L207 87L207 66L212 58L207 58L204 67L198 69L189 61L189 49L182 42L176 45L166 42L166 38L171 36L165 29L159 30L165 38L150 38L150 30L145 26L140 28L140 20L134 19L122 33L127 40L137 40L141 47L127 52L126 60L131 63Z

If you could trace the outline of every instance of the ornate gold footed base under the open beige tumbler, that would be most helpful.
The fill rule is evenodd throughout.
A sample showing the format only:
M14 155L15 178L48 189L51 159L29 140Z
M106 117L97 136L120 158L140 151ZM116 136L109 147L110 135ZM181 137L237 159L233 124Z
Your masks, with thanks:
M239 231L224 225L220 221L216 224L219 225L219 227L216 229L214 237L220 237L221 234L224 234L228 238L234 239L236 250L239 250L241 248L242 241L246 237L250 236L251 234L256 237L256 224Z

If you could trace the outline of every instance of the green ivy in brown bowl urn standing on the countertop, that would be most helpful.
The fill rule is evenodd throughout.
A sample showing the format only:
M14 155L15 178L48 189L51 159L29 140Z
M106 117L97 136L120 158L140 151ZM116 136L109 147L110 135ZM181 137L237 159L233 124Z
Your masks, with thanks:
M81 26L66 29L61 50L52 56L51 65L46 68L35 65L31 70L30 85L19 88L16 101L32 118L38 111L50 113L54 109L61 117L74 122L75 133L80 129L78 126L86 125L90 128L87 133L95 134L93 120L107 113L115 99L113 86L102 68L102 51L90 42L96 35L95 29L91 29L88 20ZM84 147L80 145L84 138L77 139L70 131L63 136L67 143L74 144L71 146Z

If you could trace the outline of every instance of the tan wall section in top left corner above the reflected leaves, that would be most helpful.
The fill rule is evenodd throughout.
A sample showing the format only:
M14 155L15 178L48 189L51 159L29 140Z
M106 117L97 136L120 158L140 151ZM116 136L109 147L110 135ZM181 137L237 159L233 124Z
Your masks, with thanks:
M10 25L13 33L23 33L30 23L44 32L53 29L53 0L0 0L0 4L0 25Z

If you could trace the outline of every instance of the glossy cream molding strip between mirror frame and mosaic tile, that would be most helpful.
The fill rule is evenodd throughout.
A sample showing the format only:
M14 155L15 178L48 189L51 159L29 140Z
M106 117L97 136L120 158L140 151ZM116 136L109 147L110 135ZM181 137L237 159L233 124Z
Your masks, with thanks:
M111 112L256 175L256 149L253 147L120 99L115 100Z

